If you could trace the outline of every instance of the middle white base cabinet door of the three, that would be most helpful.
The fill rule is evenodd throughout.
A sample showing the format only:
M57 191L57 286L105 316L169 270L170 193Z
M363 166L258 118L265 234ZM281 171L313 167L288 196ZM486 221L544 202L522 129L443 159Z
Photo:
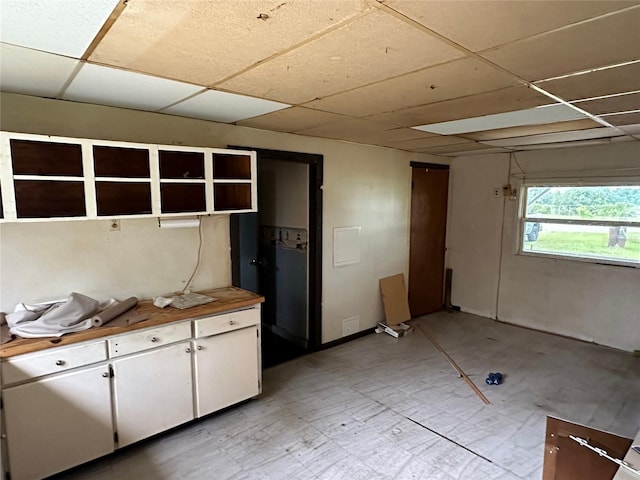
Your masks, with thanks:
M193 419L189 342L116 360L113 371L119 447Z

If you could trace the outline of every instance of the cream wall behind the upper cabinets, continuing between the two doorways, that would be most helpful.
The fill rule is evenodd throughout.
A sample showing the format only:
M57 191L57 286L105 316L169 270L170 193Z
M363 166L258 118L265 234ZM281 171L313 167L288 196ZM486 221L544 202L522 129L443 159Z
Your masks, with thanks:
M409 161L441 161L120 108L15 94L2 94L1 102L0 123L9 131L190 146L250 145L324 155L323 342L342 336L344 318L360 316L360 329L383 318L378 278L406 274L408 268ZM333 228L345 225L362 226L362 262L334 269ZM194 235L159 231L153 220L125 220L120 232L109 232L100 221L2 224L0 308L6 311L19 301L72 290L105 297L174 291L191 273ZM205 238L205 262L194 287L229 285L228 218L207 220Z

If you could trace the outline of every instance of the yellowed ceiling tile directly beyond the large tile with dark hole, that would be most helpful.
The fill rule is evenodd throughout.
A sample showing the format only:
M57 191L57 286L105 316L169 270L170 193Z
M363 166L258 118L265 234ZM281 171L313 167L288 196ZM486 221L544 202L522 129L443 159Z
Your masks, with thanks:
M405 22L374 12L220 86L300 104L461 56Z

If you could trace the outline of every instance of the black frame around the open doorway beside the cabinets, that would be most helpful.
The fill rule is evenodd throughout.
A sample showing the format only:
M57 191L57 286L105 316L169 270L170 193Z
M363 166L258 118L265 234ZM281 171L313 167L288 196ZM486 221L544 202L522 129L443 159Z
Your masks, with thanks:
M322 341L322 183L323 155L316 153L289 152L239 145L228 148L253 150L258 163L260 159L280 160L309 165L309 285L307 291L307 318L309 322L309 351L317 351ZM258 178L258 182L260 179ZM260 205L258 205L260 210Z

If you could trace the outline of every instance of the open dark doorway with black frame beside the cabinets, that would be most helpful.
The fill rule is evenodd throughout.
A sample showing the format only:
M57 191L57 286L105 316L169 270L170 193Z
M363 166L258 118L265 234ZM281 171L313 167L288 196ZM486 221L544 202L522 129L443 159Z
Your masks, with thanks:
M322 155L251 149L258 213L231 215L233 284L265 297L267 368L320 346Z

